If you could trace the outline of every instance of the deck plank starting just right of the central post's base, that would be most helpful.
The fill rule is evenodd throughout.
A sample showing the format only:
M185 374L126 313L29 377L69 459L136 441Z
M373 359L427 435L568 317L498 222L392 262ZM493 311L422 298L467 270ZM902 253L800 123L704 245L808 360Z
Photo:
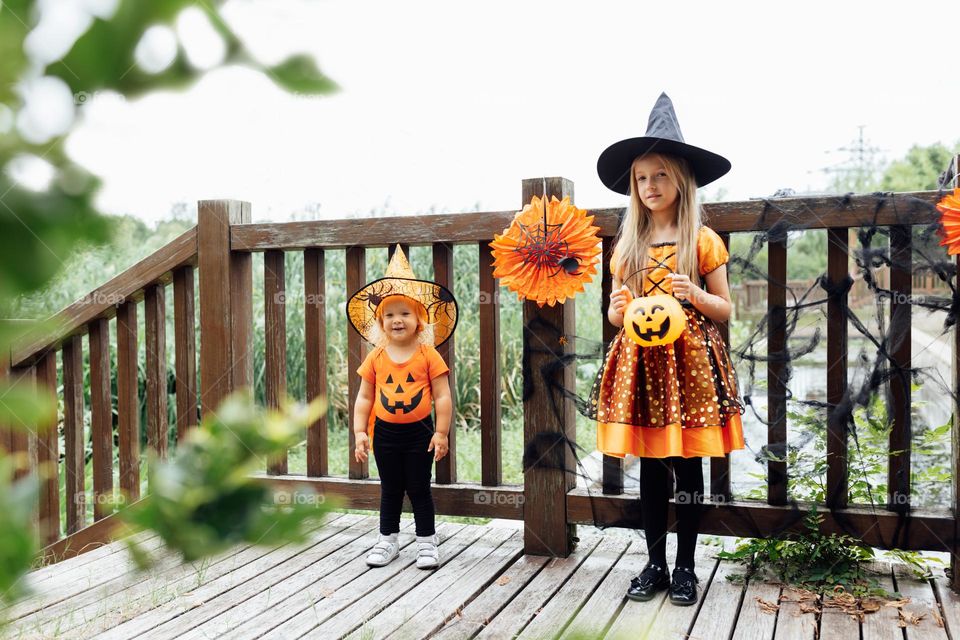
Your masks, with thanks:
M537 577L484 627L477 638L512 638L519 634L599 543L599 538L581 540L568 557L551 559Z

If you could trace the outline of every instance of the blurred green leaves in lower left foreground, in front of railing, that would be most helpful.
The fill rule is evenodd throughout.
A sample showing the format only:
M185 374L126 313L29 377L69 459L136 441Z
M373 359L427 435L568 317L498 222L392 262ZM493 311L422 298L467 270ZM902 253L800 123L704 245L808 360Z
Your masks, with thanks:
M239 543L301 542L304 525L332 505L324 496L272 489L251 474L296 443L323 410L319 402L283 412L263 411L249 396L234 395L193 429L176 457L151 460L150 495L121 512L135 529L151 529L167 548L192 562ZM134 558L146 553L129 542Z

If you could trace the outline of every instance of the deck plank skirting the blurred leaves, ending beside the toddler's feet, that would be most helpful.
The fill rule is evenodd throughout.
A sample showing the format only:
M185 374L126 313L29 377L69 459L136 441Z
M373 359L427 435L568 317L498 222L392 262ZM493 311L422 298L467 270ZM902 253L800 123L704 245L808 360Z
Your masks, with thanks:
M97 626L100 629L106 629L106 631L98 637L139 638L167 621L243 584L247 580L256 578L270 568L319 544L361 518L362 516L350 514L341 515L335 521L331 521L319 529L315 535L311 536L306 545L284 545L274 549L250 547L235 556L235 562L217 563L214 565L218 569L217 571L213 571L213 568L207 569L203 576L198 576L196 571L189 571L189 565L185 565L184 569L187 570L184 571L184 575L170 585L171 589L177 589L182 593L175 592L170 598L159 602L151 602L149 603L151 606L146 611L138 611L134 617L103 616L103 620L98 621ZM158 582L161 585L164 584L162 580ZM142 604L146 603L134 603L136 606Z

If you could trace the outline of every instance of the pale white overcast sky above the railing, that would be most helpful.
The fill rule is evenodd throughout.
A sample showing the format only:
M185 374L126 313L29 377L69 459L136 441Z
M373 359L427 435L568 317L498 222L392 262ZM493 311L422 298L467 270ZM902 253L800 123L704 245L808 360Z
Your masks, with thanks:
M686 140L733 163L707 192L725 199L823 187L846 157L828 152L861 125L891 158L960 139L960 56L939 31L955 2L234 0L224 13L262 60L306 51L341 91L291 96L226 68L186 92L93 96L68 150L104 178L105 211L154 221L225 197L252 202L255 221L505 210L544 175L572 179L581 207L619 206L597 156L643 135L661 91ZM193 31L192 55L215 61Z

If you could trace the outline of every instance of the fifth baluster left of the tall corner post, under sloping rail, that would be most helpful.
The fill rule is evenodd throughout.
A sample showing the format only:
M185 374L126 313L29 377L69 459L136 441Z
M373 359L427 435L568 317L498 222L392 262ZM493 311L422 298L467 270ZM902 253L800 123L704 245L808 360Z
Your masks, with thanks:
M63 473L67 535L83 528L86 519L86 478L83 431L83 340L63 342Z

